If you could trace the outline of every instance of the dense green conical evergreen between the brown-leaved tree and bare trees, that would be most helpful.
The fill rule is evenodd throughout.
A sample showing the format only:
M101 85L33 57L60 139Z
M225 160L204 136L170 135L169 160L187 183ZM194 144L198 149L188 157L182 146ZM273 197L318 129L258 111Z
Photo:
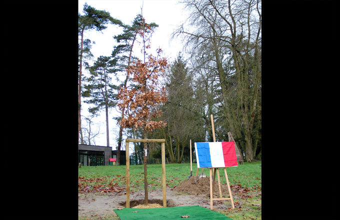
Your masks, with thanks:
M193 137L196 131L193 123L197 121L194 117L195 103L193 102L192 77L186 62L178 54L171 63L167 77L166 90L168 92L167 102L164 105L163 117L167 119L166 148L172 162L180 163L183 159L187 141ZM188 147L187 147L188 148Z

